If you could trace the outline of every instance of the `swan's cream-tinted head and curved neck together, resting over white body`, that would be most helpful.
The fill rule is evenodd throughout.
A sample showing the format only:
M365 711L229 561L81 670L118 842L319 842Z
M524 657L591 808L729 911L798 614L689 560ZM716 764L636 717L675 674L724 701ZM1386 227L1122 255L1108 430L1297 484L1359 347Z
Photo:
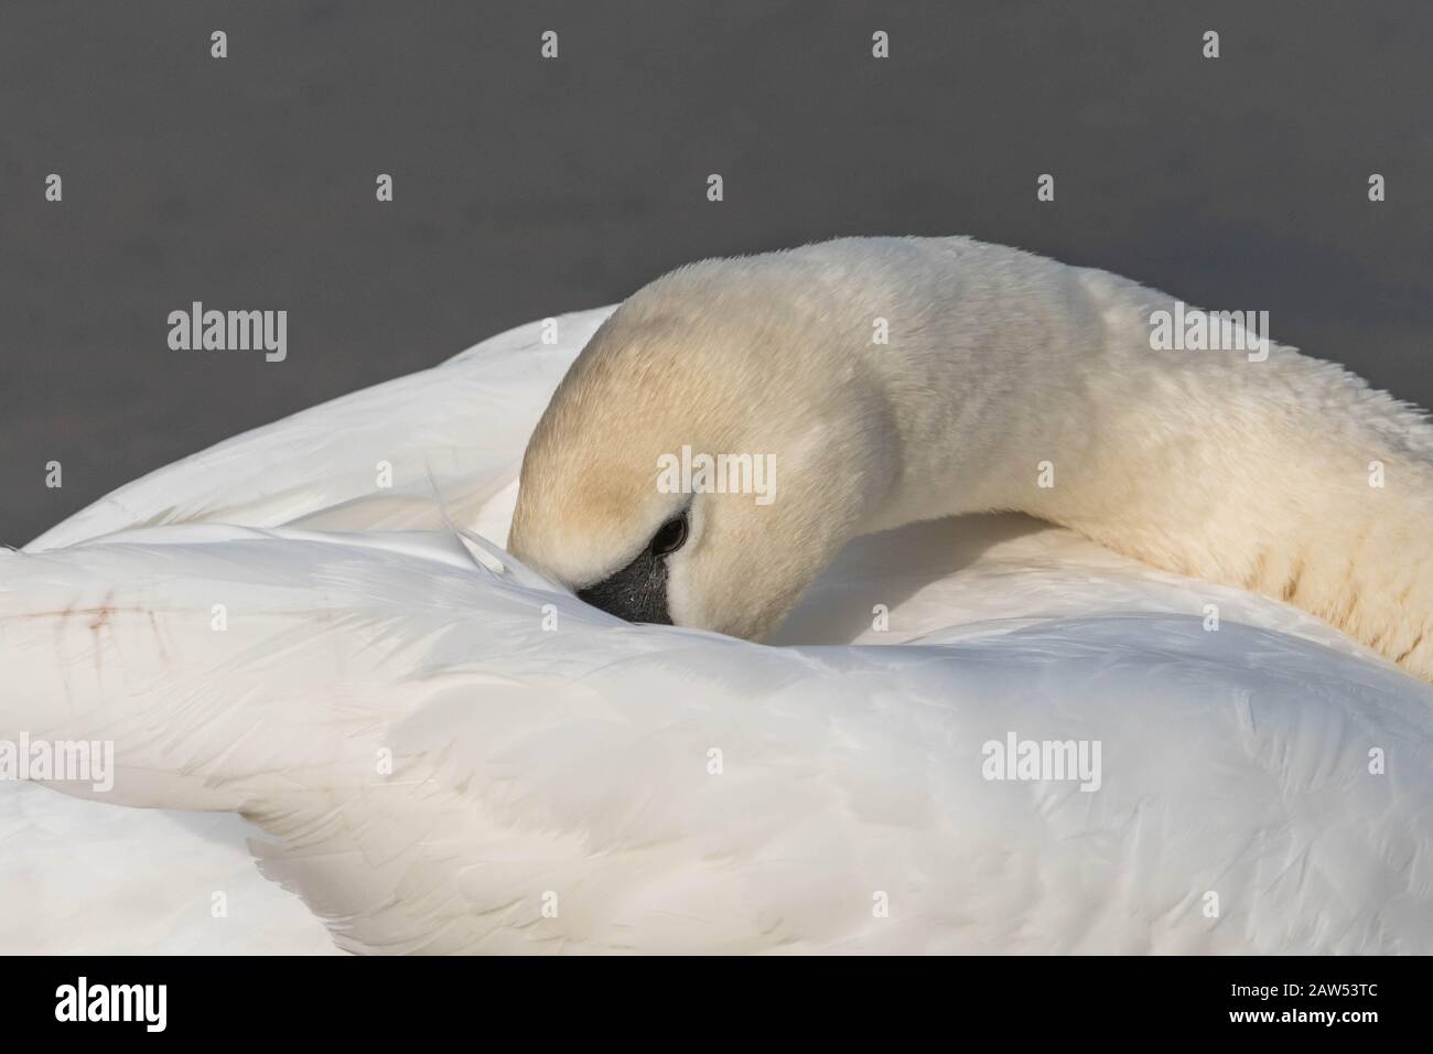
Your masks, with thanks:
M969 238L684 267L557 387L513 552L615 614L761 640L853 538L1017 511L1433 678L1433 427L1283 346L1152 350L1175 307ZM780 500L653 486L694 449L758 452Z

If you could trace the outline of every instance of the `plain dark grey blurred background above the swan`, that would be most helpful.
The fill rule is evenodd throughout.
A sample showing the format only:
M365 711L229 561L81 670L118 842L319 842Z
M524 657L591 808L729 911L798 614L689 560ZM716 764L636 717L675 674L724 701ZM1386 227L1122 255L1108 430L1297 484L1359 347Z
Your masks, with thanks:
M1433 404L1430 39L1424 0L7 1L0 543L675 264L844 234L1268 310ZM287 308L288 360L171 351L193 300Z

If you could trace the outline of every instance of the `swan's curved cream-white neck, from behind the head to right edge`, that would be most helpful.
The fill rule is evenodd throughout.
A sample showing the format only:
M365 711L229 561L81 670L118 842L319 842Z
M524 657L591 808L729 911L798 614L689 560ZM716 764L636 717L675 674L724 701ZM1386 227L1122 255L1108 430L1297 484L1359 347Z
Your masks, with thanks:
M1257 314L1234 347L1165 347L1166 317L1198 308L1103 271L964 238L802 252L830 254L835 331L898 407L864 531L1027 512L1303 607L1433 680L1433 429L1409 407Z

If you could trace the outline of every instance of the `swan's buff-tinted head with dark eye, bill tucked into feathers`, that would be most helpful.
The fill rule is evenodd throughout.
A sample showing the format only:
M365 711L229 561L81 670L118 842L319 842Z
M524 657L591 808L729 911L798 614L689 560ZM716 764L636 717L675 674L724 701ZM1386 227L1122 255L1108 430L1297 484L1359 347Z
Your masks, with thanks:
M514 555L628 621L777 628L891 476L870 323L782 262L681 268L603 323L527 445Z

